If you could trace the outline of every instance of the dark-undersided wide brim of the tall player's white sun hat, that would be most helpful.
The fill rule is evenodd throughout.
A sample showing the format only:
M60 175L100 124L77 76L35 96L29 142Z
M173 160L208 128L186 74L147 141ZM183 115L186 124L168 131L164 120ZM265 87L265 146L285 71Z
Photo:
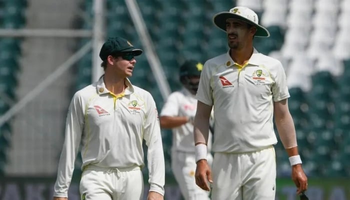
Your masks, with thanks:
M268 37L268 36L270 36L270 33L268 32L268 30L266 28L264 28L263 26L261 26L257 23L254 23L253 21L251 21L251 20L249 20L241 15L232 13L232 12L218 12L218 13L216 13L213 16L213 22L217 27L219 27L221 30L226 32L226 19L228 19L228 18L239 19L239 20L242 20L246 23L249 23L250 25L255 26L256 33L254 36L256 36L256 37Z

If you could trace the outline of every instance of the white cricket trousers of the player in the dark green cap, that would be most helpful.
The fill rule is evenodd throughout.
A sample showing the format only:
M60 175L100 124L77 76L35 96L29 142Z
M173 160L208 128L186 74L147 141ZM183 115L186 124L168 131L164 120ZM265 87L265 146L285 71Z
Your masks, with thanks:
M143 176L139 167L87 166L79 185L82 200L141 200Z

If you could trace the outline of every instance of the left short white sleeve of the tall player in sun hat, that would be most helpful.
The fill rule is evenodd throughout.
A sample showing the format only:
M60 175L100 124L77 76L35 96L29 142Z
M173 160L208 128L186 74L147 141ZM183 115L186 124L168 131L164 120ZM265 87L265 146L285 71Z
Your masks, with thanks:
M204 63L203 70L200 74L200 80L198 85L198 90L195 95L195 98L200 102L203 102L207 105L213 104L212 98L212 87L210 85L211 81L211 70L208 61Z

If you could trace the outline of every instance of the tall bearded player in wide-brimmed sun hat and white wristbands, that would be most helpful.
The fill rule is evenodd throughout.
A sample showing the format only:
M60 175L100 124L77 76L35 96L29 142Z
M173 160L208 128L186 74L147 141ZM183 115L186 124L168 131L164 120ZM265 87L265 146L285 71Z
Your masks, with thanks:
M253 37L269 36L256 13L246 7L219 12L214 23L227 33L229 51L207 60L200 76L194 119L196 183L212 186L212 199L272 200L276 162L273 114L289 156L297 193L307 189L298 155L295 129L288 110L289 92L282 64L253 48ZM214 160L206 161L208 121L215 117Z

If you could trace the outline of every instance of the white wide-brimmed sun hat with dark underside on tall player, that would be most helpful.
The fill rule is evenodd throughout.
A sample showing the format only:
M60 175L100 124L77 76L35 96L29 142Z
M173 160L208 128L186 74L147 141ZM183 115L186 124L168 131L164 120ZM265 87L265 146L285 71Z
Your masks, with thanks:
M239 19L246 23L249 23L250 25L255 26L256 33L254 36L256 37L270 36L268 30L263 26L259 25L259 19L257 18L257 14L247 7L236 6L231 8L228 12L218 12L213 16L213 21L217 27L226 32L226 19L228 18Z

